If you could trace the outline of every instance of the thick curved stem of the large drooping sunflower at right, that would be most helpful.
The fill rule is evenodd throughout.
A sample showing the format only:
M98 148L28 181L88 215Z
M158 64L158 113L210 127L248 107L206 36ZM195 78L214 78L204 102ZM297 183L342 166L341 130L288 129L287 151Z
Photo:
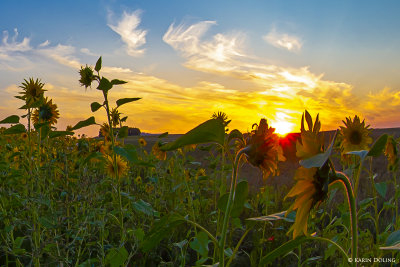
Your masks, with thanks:
M349 209L350 209L351 234L352 234L351 258L352 258L352 265L357 266L357 263L355 262L357 258L357 245L358 245L356 199L349 178L344 173L341 172L335 172L335 178L336 180L334 182L336 181L341 182L347 193L347 200L349 202Z

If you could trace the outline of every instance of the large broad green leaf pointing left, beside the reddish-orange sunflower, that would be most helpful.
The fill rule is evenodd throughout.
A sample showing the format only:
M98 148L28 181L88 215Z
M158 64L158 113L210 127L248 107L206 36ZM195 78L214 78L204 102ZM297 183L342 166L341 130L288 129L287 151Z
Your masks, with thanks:
M225 126L222 120L211 119L194 129L187 132L185 135L176 139L174 142L161 146L161 150L169 151L184 147L186 145L201 144L215 142L224 145Z

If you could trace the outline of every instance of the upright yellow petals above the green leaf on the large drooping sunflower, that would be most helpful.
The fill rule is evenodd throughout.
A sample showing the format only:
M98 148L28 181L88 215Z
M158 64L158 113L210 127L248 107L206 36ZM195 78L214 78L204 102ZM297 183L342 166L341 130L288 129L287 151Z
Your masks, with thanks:
M307 122L308 130L304 127L304 119ZM307 159L323 151L324 139L319 133L320 129L319 114L313 124L312 117L306 110L301 117L300 140L296 142L296 156L298 158Z

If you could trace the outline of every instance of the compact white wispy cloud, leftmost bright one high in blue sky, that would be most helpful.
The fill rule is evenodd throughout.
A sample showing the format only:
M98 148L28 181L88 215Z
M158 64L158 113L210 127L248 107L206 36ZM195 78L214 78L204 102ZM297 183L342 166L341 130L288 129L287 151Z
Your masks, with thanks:
M138 29L141 13L141 10L136 10L130 14L124 12L116 25L108 24L113 31L121 36L126 45L126 53L133 57L143 55L145 52L145 49L140 47L146 43L147 31Z

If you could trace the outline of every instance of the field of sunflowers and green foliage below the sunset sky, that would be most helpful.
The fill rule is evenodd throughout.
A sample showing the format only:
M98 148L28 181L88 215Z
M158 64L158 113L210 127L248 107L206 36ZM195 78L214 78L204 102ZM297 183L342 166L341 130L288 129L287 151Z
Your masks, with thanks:
M102 138L74 136L94 117L56 129L57 105L34 78L16 96L25 115L0 121L1 266L399 264L400 140L373 140L355 115L326 145L318 116L305 111L290 141L291 188L265 183L253 193L245 164L268 181L287 160L268 118L241 133L216 112L174 141L165 133L151 147L146 137L128 144L118 108L140 98L110 103L125 82L101 67L101 58L82 67L79 82L103 94L90 104L104 114ZM371 167L378 157L391 176L384 181Z

